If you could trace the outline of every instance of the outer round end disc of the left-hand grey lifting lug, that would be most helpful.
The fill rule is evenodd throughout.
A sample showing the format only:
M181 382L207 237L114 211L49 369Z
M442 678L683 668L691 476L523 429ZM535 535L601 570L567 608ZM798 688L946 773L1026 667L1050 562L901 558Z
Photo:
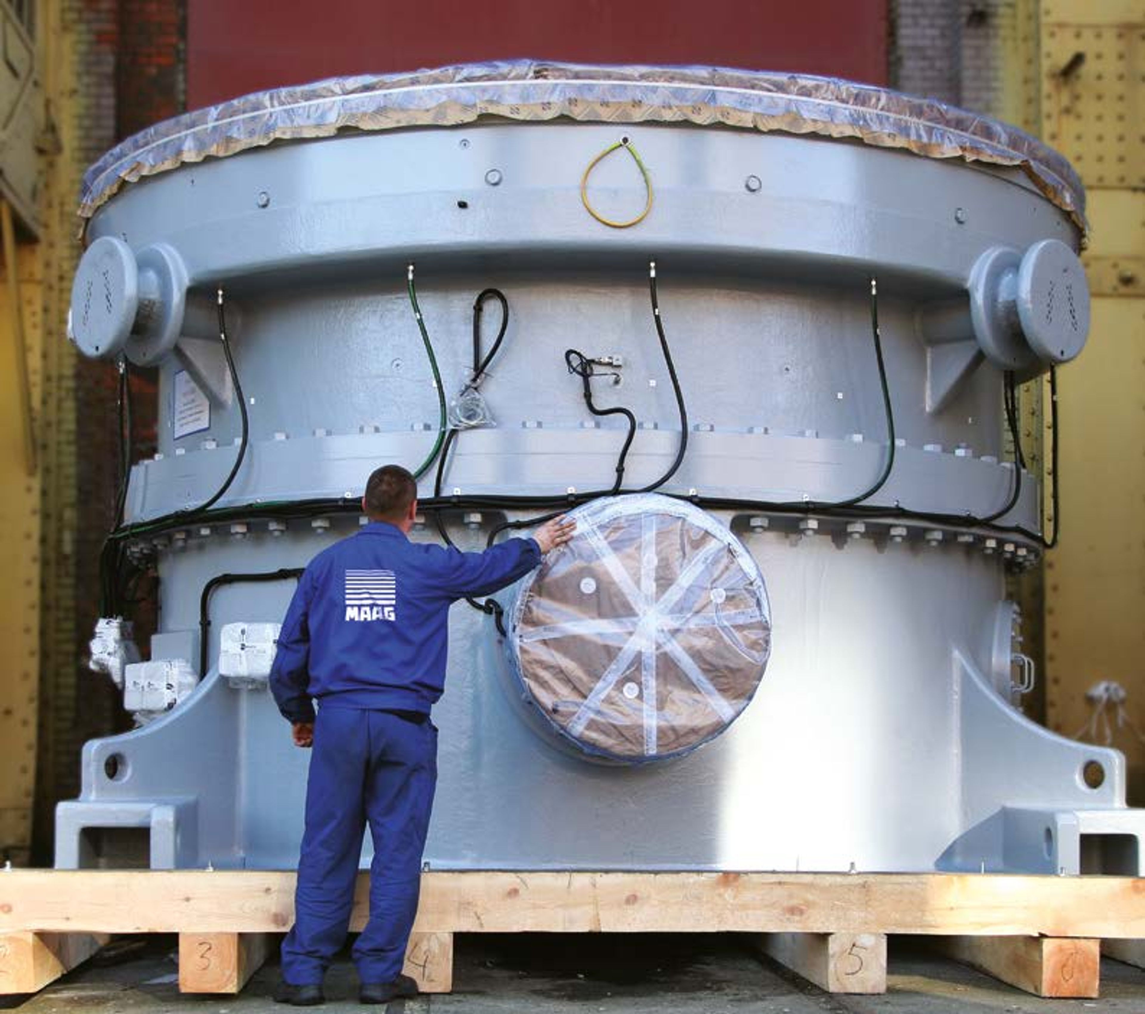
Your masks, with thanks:
M72 282L71 333L84 355L123 352L139 309L139 267L132 249L101 236L84 251Z

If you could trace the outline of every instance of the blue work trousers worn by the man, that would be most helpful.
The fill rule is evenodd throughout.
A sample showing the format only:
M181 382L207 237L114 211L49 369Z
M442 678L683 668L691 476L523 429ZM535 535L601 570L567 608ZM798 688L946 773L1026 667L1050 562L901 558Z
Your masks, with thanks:
M392 982L402 972L418 911L437 784L437 730L428 718L319 706L313 749L283 977L294 985L321 984L346 942L369 820L370 920L354 945L354 964L363 982Z

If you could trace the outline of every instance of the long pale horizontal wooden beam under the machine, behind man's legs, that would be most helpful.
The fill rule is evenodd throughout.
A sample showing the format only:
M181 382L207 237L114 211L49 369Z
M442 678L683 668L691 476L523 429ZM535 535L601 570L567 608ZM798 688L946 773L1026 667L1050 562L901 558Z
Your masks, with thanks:
M294 874L13 870L0 932L285 933ZM350 926L366 915L365 874ZM421 933L902 933L1145 937L1145 878L431 872Z

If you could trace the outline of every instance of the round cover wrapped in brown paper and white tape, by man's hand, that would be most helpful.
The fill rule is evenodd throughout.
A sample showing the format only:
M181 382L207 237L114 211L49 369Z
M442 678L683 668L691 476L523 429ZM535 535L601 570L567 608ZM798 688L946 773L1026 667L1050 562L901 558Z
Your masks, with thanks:
M767 590L727 528L655 494L571 512L572 541L521 584L510 652L527 698L586 754L678 756L751 700L771 650Z

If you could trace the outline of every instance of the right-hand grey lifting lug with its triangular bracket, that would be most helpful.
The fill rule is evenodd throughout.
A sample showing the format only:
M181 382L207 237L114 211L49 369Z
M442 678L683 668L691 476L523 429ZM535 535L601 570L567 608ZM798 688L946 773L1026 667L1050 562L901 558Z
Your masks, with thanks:
M926 411L941 411L962 382L988 360L1030 379L1068 362L1089 333L1089 285L1077 254L1042 239L1024 254L994 246L974 262L969 300L924 306L918 333L926 346Z

